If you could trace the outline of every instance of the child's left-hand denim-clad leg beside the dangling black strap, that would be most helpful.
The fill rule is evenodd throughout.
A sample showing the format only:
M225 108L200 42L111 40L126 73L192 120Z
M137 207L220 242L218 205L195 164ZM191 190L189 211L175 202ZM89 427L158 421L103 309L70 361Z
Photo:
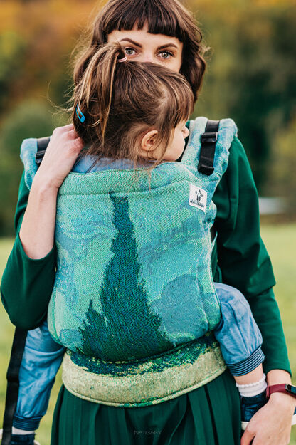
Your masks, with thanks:
M51 388L65 348L53 341L47 322L28 331L19 371L19 390L13 434L34 433L46 413ZM20 438L21 439L21 438Z

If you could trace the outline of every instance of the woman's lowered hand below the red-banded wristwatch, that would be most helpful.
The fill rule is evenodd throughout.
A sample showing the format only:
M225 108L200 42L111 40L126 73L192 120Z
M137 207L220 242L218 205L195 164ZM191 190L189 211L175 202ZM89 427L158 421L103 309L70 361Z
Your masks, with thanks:
M271 394L268 403L250 419L240 444L289 444L295 403L295 398L288 394Z

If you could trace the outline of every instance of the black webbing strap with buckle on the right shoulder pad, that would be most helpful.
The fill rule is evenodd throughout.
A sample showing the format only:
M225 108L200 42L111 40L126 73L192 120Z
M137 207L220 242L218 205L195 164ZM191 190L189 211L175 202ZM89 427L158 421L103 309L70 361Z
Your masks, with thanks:
M213 159L218 137L219 120L206 122L206 130L201 135L201 153L199 155L199 172L209 176L213 173Z

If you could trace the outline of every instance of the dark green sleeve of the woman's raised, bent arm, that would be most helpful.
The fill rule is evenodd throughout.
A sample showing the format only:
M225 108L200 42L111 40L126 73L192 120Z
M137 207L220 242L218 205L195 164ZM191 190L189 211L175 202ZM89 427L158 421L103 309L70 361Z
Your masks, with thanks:
M19 238L29 189L21 177L14 216L16 240L1 281L1 300L11 323L25 330L36 328L46 316L56 275L56 245L40 259L29 258Z

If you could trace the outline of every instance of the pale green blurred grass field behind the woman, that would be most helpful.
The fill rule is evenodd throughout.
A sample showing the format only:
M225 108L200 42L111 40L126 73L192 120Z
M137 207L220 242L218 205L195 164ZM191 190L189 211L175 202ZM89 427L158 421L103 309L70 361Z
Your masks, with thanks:
M296 269L296 224L282 226L263 226L262 237L268 252L273 260L273 268L277 286L275 286L275 294L280 306L282 321L285 329L285 336L290 355L290 363L293 375L296 372L296 298L295 288L292 277L295 276ZM0 240L0 276L4 270L7 257L11 251L13 240ZM9 360L9 352L11 348L13 326L4 311L0 307L0 424L3 418L5 392L6 392L6 368ZM53 415L53 407L55 405L58 389L60 387L60 372L53 387L51 402L46 416L41 422L40 429L36 439L41 445L49 445L51 435L51 419ZM294 380L294 384L296 384ZM296 426L292 428L291 445L296 445Z

